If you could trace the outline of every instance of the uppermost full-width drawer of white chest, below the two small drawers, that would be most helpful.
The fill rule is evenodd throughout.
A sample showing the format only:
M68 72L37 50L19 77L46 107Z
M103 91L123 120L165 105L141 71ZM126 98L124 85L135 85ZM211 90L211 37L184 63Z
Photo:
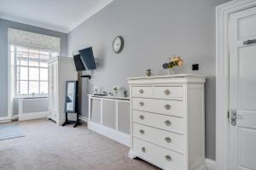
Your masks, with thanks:
M178 100L132 98L132 109L183 117L185 105Z

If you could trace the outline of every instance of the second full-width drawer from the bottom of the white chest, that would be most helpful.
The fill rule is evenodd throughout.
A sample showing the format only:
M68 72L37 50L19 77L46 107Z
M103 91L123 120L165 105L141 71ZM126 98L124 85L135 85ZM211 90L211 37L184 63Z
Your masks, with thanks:
M133 123L133 136L183 153L183 135Z

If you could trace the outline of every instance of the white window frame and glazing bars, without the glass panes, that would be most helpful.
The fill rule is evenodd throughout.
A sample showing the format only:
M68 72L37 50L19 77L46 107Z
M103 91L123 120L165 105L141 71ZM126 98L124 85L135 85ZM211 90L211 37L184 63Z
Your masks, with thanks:
M14 49L12 50L12 47L14 47ZM27 52L20 52L17 50L17 48L26 48L27 49ZM35 66L35 65L30 65L29 61L30 61L30 54L36 54L36 53L32 53L30 52L29 50L35 50L35 51L38 51L38 65ZM22 54L27 54L27 65L18 65L17 63L17 53L22 53ZM14 57L14 71L15 71L15 97L48 97L48 93L47 94L41 94L41 82L49 82L49 76L48 76L48 79L47 80L41 80L41 69L46 69L47 71L49 71L49 67L48 66L41 66L40 65L40 61L41 61L41 56L42 54L40 54L40 52L47 52L49 53L49 59L52 59L53 54L59 54L57 52L52 52L52 51L47 51L47 50L42 50L42 49L37 49L37 48L29 48L29 47L25 47L25 46L20 46L20 45L15 45L15 44L12 44L10 43L9 44L9 54L11 57ZM12 56L12 53L14 53L14 56ZM45 54L43 54L45 55ZM48 59L48 61L49 61ZM43 60L43 59L42 59ZM48 62L47 61L47 62ZM20 74L18 73L18 68L27 68L27 79L25 80L21 80L20 79ZM30 80L30 77L29 77L29 72L30 72L30 68L38 68L38 80ZM20 71L19 71L20 72ZM18 92L18 89L20 90L20 82L27 82L27 94L20 94ZM30 82L38 82L38 93L35 93L35 94L31 94L30 93ZM19 86L19 88L18 88ZM49 91L49 89L48 89Z

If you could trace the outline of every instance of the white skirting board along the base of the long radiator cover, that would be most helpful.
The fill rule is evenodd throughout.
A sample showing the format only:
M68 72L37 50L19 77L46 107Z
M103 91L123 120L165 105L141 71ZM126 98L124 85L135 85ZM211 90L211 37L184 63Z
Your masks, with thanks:
M96 124L95 122L88 122L88 129L100 133L103 136L113 139L121 144L130 147L130 135L125 133L120 133L112 128L103 127L102 125Z

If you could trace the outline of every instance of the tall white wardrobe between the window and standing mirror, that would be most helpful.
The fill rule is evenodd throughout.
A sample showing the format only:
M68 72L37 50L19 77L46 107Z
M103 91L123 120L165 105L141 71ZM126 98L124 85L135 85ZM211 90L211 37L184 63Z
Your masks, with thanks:
M66 81L77 81L73 58L56 57L49 60L49 119L61 125L65 121Z

